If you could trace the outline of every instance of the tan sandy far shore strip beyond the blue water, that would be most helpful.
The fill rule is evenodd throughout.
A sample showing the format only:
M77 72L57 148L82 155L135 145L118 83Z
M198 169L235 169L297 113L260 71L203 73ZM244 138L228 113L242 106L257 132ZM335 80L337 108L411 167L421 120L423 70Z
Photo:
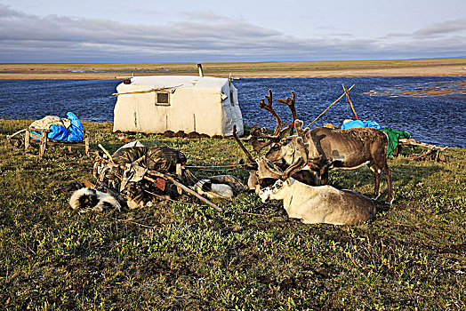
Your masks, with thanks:
M203 63L205 76L233 78L466 76L466 59ZM121 79L197 76L196 63L0 64L0 79Z

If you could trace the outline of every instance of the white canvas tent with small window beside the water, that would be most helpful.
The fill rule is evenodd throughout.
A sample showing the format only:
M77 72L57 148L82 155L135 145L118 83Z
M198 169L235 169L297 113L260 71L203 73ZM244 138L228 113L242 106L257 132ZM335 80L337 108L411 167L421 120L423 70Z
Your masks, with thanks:
M237 88L226 78L135 76L116 87L113 131L162 133L167 130L242 135Z

